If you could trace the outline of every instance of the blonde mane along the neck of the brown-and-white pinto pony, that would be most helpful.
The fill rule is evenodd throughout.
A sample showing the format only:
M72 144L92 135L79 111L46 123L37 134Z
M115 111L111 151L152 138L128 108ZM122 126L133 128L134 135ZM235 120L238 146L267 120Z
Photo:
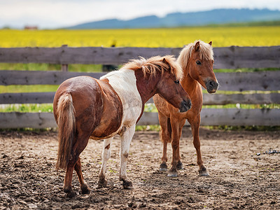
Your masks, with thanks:
M133 71L142 69L144 76L146 76L146 73L151 73L151 75L155 76L157 71L162 74L165 71L169 71L175 75L177 79L181 79L183 76L182 68L176 62L173 55L165 55L163 57L155 56L148 59L145 59L144 57L140 57L140 59L132 59L125 64L122 69L131 69Z

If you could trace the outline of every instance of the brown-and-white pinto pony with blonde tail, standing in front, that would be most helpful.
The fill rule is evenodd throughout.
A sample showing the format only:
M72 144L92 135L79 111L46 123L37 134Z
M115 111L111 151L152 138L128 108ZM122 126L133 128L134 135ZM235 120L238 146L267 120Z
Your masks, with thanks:
M124 188L133 188L127 179L126 165L135 124L144 104L156 93L176 107L178 113L190 109L190 97L179 83L181 76L181 66L167 55L132 60L100 80L90 76L70 78L58 87L53 102L59 140L56 167L66 169L63 189L68 197L76 195L71 187L73 169L81 192L90 193L79 158L90 138L104 139L99 186L106 186L106 162L116 134L121 139L120 181Z

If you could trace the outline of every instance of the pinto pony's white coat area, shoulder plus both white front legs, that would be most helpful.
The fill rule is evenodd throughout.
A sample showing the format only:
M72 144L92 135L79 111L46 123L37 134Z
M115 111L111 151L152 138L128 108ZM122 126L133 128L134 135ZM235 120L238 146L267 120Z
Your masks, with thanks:
M109 80L110 85L117 92L123 103L123 120L120 125L120 129L124 129L124 132L120 134L120 181L126 181L127 156L130 151L130 142L135 132L135 124L142 111L142 100L137 90L135 71L120 69L119 71L112 71L100 79L104 78ZM109 150L110 148L103 148L104 157L102 159L102 169L99 174L102 177L105 177L105 167L106 161L109 159L107 157L110 153Z

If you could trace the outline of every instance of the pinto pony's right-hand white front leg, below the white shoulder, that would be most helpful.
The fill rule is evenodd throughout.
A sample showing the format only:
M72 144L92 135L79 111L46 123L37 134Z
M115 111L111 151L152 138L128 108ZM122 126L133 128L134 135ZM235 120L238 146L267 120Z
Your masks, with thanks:
M123 181L123 188L133 189L132 181L127 179L127 158L130 151L130 143L135 132L135 125L126 127L125 132L121 135L120 147L120 181Z

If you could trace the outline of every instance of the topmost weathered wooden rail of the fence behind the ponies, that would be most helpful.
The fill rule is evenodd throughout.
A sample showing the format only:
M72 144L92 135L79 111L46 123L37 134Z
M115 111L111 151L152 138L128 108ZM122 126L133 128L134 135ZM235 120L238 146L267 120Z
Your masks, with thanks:
M123 64L155 55L178 56L182 48L0 48L0 62ZM214 48L215 69L278 68L280 46Z

